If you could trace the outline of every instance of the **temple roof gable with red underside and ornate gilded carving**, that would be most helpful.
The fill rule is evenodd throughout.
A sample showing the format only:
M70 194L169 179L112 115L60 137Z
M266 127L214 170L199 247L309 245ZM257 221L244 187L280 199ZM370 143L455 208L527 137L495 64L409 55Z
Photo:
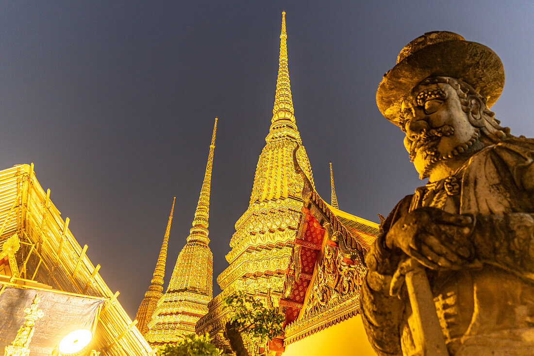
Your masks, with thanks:
M297 171L304 173L293 155ZM364 255L379 233L377 223L327 204L304 179L303 216L284 284L285 336L271 350L359 313ZM341 273L341 271L343 271ZM332 283L335 281L335 283ZM335 296L335 297L332 297Z

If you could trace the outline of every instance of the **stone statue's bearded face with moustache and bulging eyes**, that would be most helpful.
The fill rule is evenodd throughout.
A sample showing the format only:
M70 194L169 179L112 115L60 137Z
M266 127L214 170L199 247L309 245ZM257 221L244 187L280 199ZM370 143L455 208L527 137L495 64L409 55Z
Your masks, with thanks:
M403 102L404 146L421 179L437 163L447 164L467 153L477 138L468 113L449 84L420 84Z

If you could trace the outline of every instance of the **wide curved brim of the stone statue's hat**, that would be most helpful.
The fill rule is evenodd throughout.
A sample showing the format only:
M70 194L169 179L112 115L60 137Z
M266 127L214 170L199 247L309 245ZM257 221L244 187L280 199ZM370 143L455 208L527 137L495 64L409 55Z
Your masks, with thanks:
M469 41L445 41L429 45L400 61L384 78L376 91L376 105L382 115L400 126L402 100L429 76L450 76L468 83L491 107L504 87L502 62L483 44Z

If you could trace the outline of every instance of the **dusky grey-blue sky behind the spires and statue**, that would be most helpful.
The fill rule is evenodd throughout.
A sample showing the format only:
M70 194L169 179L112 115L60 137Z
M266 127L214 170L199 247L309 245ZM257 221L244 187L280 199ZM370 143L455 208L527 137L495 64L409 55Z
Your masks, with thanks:
M532 1L0 2L0 169L34 162L132 319L174 196L167 283L186 242L216 116L209 237L220 292L269 131L282 10L296 123L328 203L332 161L341 210L378 222L425 183L375 103L383 73L425 32L493 49L506 84L492 110L534 137Z

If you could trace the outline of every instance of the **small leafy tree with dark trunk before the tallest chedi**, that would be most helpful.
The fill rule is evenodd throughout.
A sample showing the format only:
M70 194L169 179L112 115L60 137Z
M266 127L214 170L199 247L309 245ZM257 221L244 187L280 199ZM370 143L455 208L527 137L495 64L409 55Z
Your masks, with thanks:
M265 307L258 298L239 291L224 298L223 305L230 308L232 315L226 323L226 337L238 356L248 354L243 350L241 335L257 338L264 343L283 332L284 315L274 307Z

